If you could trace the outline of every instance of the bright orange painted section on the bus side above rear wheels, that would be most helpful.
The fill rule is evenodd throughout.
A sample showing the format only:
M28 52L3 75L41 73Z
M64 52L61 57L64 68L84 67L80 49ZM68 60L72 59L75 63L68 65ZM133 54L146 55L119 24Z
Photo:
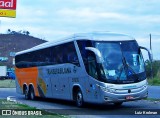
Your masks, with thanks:
M23 91L23 85L32 84L34 87L34 92L36 96L39 96L38 93L38 86L37 86L37 78L38 78L38 68L32 67L32 68L16 68L15 69L16 78L17 78L17 84L20 85L21 91Z

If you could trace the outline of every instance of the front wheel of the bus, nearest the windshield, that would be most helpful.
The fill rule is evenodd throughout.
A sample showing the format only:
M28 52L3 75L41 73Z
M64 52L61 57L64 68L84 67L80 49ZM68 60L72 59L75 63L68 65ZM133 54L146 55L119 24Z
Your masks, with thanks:
M80 89L77 90L76 92L76 105L78 107L83 107L84 106L84 101L83 101L83 94Z

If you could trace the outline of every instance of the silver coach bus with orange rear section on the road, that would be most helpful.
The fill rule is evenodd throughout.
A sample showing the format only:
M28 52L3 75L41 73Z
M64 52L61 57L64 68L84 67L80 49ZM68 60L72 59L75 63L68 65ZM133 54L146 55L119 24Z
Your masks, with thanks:
M84 103L114 103L146 98L141 49L131 36L116 33L74 34L17 52L16 91L35 97Z

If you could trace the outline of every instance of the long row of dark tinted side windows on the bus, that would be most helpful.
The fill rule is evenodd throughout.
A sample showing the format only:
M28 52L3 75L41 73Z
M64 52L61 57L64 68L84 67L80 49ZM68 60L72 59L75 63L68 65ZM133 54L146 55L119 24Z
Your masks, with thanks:
M16 67L72 63L79 66L78 56L73 42L29 52L15 57Z

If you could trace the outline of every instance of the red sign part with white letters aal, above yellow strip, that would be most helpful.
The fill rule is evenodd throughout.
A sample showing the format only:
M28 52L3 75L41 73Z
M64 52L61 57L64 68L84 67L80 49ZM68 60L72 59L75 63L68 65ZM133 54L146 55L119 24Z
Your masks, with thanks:
M16 10L17 0L0 0L0 9Z

